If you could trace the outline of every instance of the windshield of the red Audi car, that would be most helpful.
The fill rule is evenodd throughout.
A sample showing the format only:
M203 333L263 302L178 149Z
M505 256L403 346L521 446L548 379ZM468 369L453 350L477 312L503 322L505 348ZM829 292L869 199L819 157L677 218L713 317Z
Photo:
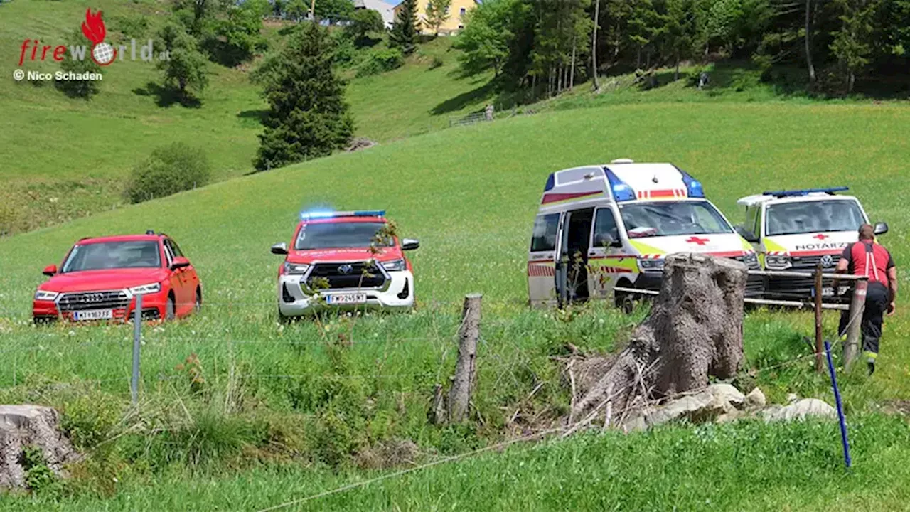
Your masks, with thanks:
M139 269L161 266L157 241L103 241L76 245L63 272Z

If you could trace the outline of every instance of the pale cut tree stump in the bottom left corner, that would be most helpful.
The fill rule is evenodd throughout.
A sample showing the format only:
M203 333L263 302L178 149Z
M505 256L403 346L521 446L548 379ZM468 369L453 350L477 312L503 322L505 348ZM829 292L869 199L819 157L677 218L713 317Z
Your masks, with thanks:
M66 476L64 465L76 452L59 429L60 415L41 405L0 405L0 489L25 487L23 452L41 449L45 464L56 476Z

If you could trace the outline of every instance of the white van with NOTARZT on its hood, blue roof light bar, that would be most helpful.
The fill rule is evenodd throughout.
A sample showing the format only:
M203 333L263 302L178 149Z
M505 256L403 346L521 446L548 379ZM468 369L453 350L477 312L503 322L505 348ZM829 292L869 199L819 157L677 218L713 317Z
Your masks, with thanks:
M770 271L834 271L844 248L856 241L856 230L869 223L863 205L854 196L832 189L775 190L737 201L745 208L745 220L736 230L758 252L759 262ZM875 224L875 234L888 230ZM847 286L837 295L844 296ZM769 299L799 300L814 295L813 278L768 278ZM823 296L834 295L831 282L824 282Z

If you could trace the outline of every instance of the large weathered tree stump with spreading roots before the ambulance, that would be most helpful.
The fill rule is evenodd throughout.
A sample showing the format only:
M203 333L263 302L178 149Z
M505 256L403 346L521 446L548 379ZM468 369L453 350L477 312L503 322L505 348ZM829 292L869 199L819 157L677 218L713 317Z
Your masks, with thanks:
M733 377L743 361L746 276L739 261L669 256L660 295L628 346L574 365L582 397L571 417L591 421L608 405L622 414L636 403L701 389L708 375Z

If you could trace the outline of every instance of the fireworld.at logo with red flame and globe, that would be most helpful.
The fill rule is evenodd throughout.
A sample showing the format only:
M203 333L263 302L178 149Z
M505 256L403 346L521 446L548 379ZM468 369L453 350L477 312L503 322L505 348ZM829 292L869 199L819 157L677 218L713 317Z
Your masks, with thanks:
M85 60L86 54L96 62L98 66L108 66L113 63L117 56L124 60L128 53L130 60L136 60L136 48L138 47L139 58L143 61L150 62L155 59L155 43L151 39L145 45L137 46L136 39L131 39L129 46L120 45L114 47L105 41L107 36L107 27L101 17L101 11L92 13L91 9L86 9L86 20L82 22L82 35L91 41L92 46L89 49L86 45L73 45L67 48L64 45L42 45L38 39L24 39L19 51L19 66L25 63L26 56L28 60L47 60L48 54L56 61L62 61L67 57L73 60ZM29 52L29 50L31 50ZM127 52L127 50L129 50ZM162 51L157 55L158 60L168 60L170 56L167 51Z

